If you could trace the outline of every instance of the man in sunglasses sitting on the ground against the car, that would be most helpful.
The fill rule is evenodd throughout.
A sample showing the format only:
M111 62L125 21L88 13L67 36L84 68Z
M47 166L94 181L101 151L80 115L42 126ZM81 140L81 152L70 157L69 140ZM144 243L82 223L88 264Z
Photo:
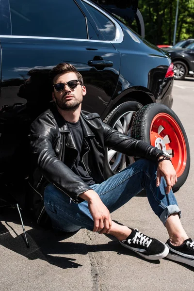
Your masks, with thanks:
M168 154L112 129L97 113L82 112L86 88L73 65L59 64L50 75L55 106L32 123L30 140L33 161L48 181L44 204L53 227L109 233L146 259L167 256L194 266L194 241L180 223L172 191L177 176ZM141 159L106 179L105 147ZM166 244L111 219L111 212L143 188L168 231Z

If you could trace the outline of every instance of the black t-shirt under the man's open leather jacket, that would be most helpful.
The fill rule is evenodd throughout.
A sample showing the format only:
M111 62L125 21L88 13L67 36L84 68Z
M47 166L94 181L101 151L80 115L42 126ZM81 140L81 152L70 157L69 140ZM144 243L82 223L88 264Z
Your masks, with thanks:
M85 166L81 162L81 148L83 144L83 131L81 128L80 120L78 122L66 122L67 126L70 130L70 133L72 135L72 139L75 142L76 148L78 150L78 157L71 168L71 170L78 175L86 184L88 185L94 185L95 181L92 177L89 176L87 171L85 170Z

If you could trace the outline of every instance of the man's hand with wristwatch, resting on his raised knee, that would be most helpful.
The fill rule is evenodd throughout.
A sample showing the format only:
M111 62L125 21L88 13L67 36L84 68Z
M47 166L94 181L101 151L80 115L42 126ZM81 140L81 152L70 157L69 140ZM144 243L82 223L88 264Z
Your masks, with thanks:
M161 182L161 177L166 181L166 194L169 194L175 183L177 183L177 174L169 160L159 162L157 169L156 186L158 187Z

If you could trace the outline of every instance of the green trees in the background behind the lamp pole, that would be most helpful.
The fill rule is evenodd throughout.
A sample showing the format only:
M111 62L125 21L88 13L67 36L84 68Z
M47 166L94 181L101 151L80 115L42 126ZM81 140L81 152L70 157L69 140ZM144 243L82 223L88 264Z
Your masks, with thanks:
M145 22L145 38L151 43L173 43L177 0L139 0ZM180 0L176 42L194 37L194 0Z

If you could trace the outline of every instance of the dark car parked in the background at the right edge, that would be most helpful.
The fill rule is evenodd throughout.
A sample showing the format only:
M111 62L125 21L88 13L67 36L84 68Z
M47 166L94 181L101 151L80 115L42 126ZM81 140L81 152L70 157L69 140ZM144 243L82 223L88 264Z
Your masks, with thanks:
M176 80L183 80L186 76L194 76L194 41L185 49L169 49L168 53L174 64Z

